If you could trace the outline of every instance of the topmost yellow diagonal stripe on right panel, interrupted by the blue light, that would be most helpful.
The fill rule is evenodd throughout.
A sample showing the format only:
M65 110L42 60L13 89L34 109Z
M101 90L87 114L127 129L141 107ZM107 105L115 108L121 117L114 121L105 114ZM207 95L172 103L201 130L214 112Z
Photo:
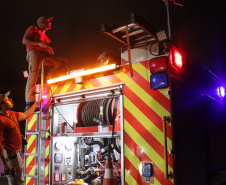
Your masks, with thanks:
M146 61L146 62L149 62L149 61ZM143 66L141 63L136 63L136 64L133 65L133 69L136 72L138 72L150 84L150 76L151 76L151 73L150 73L150 71L145 66ZM160 93L162 93L166 98L170 99L170 96L169 95L166 95L166 92L169 91L168 88L159 89L158 91Z

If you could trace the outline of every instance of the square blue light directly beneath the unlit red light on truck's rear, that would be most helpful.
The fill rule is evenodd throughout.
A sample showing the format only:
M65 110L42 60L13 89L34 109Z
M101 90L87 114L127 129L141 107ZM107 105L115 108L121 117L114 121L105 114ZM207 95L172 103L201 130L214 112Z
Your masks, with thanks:
M150 77L151 89L163 89L169 86L167 73L154 73Z

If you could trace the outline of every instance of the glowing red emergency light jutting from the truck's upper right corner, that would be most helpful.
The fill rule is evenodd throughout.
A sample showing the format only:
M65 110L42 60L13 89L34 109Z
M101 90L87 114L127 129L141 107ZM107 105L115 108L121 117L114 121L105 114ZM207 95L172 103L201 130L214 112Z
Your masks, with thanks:
M180 54L180 52L175 46L172 46L170 50L169 60L172 66L182 69L182 65L183 65L182 55Z

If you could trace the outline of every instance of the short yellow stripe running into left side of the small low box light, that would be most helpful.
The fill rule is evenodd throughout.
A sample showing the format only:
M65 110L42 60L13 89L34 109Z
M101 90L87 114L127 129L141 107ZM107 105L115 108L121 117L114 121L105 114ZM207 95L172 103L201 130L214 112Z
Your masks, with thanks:
M130 150L130 148L125 144L125 156L133 164L133 166L140 172L139 166L141 161L138 157ZM140 172L141 173L141 172ZM154 185L161 185L161 183L154 177Z

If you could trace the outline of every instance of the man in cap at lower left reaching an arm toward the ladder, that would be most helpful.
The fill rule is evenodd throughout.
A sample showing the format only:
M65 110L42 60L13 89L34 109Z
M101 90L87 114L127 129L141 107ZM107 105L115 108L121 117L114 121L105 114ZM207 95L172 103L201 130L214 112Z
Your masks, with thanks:
M10 92L0 94L0 158L7 175L9 185L24 185L23 160L20 155L22 147L22 135L18 121L27 119L38 105L37 100L30 109L22 112L11 111L13 101ZM16 173L12 174L12 169Z

